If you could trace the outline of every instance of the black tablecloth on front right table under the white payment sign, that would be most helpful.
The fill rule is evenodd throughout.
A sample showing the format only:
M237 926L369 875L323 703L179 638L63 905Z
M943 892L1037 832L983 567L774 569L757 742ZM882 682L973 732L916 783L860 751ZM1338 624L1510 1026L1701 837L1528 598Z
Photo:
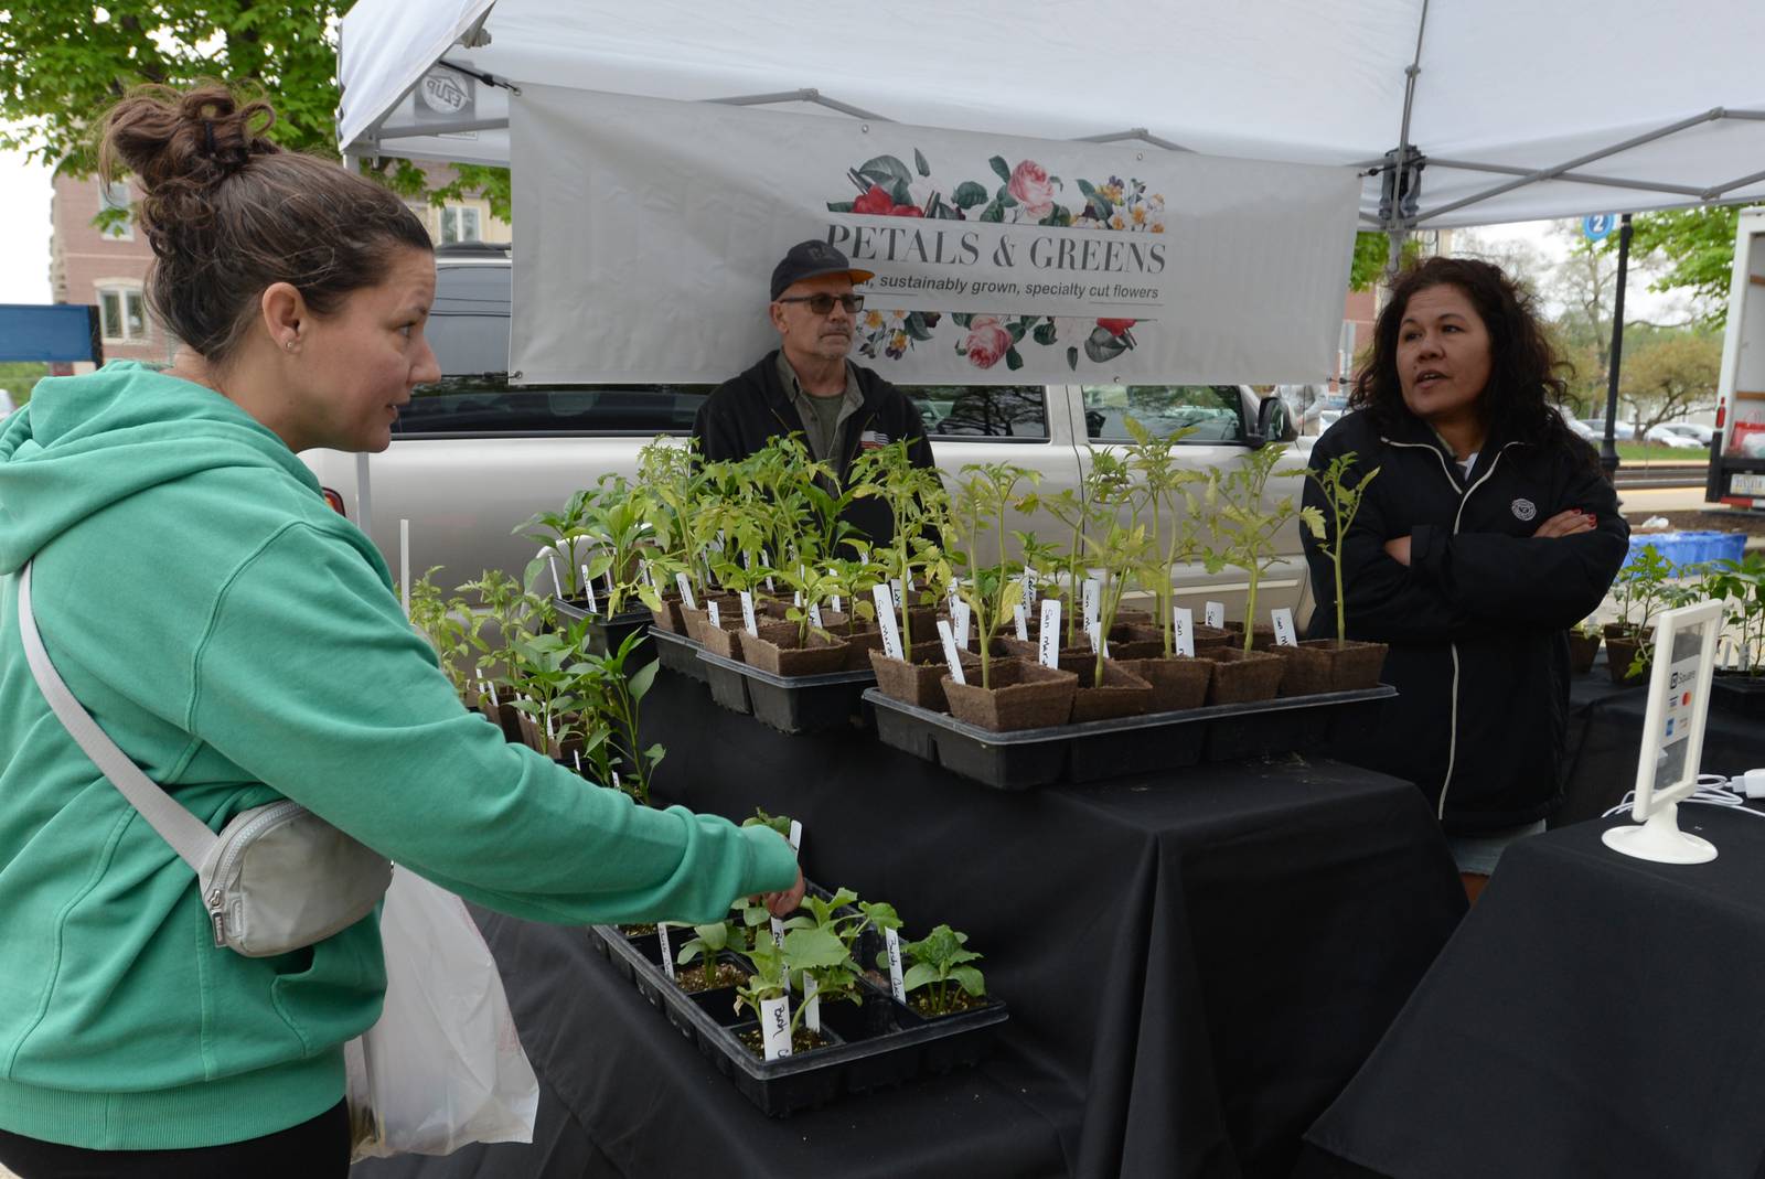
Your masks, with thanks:
M1308 1133L1301 1174L1753 1179L1765 1161L1765 819L1680 807L1709 865L1587 822L1513 845ZM1318 1160L1327 1163L1329 1160Z

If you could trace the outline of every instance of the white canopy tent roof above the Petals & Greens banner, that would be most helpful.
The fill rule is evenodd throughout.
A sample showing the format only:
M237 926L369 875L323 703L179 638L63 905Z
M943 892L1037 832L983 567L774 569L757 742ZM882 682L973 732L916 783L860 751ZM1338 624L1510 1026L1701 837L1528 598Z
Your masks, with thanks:
M510 85L780 102L1356 168L1366 228L1426 229L1765 198L1761 44L1756 0L362 0L337 134L507 164Z

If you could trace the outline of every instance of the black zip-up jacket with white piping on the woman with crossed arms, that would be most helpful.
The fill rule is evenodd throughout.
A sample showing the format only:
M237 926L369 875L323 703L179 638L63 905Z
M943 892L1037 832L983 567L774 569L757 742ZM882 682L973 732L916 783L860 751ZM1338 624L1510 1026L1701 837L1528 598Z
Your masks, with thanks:
M1562 803L1566 632L1594 612L1627 552L1611 484L1580 439L1491 438L1465 477L1410 415L1394 431L1368 413L1343 417L1311 450L1311 469L1345 452L1356 455L1348 482L1378 468L1343 545L1347 630L1391 644L1384 680L1400 695L1338 738L1336 755L1416 782L1449 831L1548 817ZM1310 478L1304 503L1331 519ZM1567 508L1592 512L1594 531L1532 537ZM1410 538L1408 567L1384 549L1396 537ZM1333 637L1331 563L1303 542L1318 604L1310 637Z

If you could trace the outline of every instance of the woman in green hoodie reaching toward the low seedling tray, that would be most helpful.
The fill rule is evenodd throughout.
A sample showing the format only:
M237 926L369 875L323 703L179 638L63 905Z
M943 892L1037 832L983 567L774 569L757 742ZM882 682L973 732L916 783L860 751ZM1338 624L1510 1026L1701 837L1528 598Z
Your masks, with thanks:
M385 450L424 341L427 233L395 196L263 138L222 88L125 99L155 371L46 379L0 429L0 1163L26 1179L344 1175L342 1043L379 1015L367 918L217 948L192 872L51 715L49 658L212 830L291 798L515 916L708 921L801 897L789 845L586 785L466 711L374 545L295 457Z

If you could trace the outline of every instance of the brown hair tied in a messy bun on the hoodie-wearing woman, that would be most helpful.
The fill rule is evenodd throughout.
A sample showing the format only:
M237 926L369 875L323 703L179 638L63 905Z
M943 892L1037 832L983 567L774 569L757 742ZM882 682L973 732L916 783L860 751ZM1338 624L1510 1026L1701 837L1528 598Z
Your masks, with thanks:
M210 364L240 344L270 284L291 284L323 316L379 282L397 251L434 249L404 201L284 152L265 138L274 124L268 102L214 83L139 86L104 116L99 171L122 164L145 191L148 307Z

